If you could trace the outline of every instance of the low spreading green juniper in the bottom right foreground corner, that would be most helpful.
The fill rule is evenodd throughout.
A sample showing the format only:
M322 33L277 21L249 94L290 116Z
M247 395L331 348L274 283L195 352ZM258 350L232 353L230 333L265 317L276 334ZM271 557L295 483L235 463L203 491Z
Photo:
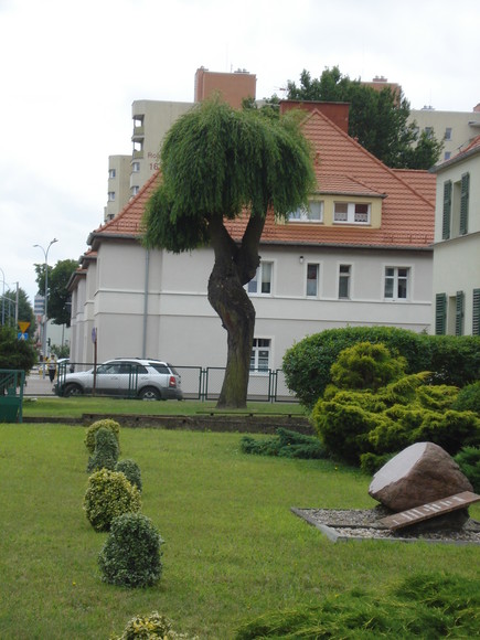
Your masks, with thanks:
M413 574L386 593L355 589L314 607L273 611L238 629L254 638L473 638L480 625L480 579Z

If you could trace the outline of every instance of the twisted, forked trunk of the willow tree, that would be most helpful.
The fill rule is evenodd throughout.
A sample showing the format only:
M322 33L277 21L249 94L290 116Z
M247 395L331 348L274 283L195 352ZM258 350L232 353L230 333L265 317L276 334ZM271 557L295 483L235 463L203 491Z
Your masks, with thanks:
M242 246L231 238L222 218L210 224L215 264L209 279L209 301L227 331L226 370L217 408L246 407L255 308L244 285L254 277L259 264L264 224L265 218L250 216Z

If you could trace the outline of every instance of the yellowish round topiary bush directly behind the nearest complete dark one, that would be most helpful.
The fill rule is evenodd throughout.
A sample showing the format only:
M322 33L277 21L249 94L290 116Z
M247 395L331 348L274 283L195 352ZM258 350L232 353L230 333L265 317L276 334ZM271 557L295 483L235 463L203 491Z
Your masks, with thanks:
M95 531L108 531L118 515L140 511L140 492L124 473L102 469L88 478L84 509Z

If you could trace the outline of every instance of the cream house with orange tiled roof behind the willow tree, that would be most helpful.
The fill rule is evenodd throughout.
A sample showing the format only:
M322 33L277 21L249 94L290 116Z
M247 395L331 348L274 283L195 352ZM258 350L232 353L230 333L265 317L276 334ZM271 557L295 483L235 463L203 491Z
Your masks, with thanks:
M436 177L388 169L323 110L319 103L303 124L318 182L309 209L286 223L269 212L260 265L246 287L256 308L252 366L259 370L250 384L280 369L295 342L324 329L430 327ZM74 362L92 362L95 327L99 361L225 365L226 333L206 297L213 252L174 255L141 245L145 205L159 180L153 174L88 237L90 252L72 281ZM234 239L246 222L245 214L225 223Z

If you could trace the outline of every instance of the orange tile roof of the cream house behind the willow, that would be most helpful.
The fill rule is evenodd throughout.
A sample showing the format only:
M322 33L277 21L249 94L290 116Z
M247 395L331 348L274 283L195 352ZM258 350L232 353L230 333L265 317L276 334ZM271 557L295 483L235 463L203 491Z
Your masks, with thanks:
M269 212L263 242L392 248L425 248L433 243L434 174L428 171L388 169L318 110L306 118L303 131L316 151L314 170L319 192L382 196L381 228L327 226L318 223L277 224L273 212ZM102 236L138 236L145 205L158 181L159 173L154 173L114 220L90 234L88 243ZM247 214L243 214L226 223L234 238L242 237L247 220Z

